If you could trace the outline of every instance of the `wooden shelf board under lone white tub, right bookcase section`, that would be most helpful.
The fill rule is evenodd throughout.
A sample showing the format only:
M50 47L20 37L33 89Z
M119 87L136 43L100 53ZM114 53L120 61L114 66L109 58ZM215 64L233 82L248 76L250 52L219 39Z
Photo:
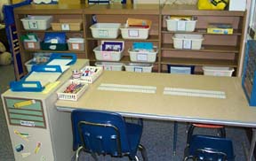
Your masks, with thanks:
M196 51L196 52L223 52L223 53L239 53L239 48L236 46L224 46L224 45L202 45L201 50L178 50L173 48L172 43L162 44L161 50L177 50L177 51Z

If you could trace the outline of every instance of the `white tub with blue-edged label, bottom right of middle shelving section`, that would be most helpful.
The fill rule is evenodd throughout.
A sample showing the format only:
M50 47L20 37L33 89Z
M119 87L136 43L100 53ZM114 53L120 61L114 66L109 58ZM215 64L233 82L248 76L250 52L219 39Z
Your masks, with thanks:
M153 65L152 64L139 64L139 63L129 63L124 65L125 71L136 72L136 73L151 73Z

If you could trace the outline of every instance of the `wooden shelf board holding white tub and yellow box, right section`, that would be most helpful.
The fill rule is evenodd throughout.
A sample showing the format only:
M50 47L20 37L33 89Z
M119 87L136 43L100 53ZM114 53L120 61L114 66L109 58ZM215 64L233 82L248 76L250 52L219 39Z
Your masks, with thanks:
M207 33L207 28L196 28L194 32L186 32L186 31L168 31L167 27L163 27L162 34L188 34L188 35L221 35L221 34L211 34ZM242 35L241 30L234 30L232 35Z

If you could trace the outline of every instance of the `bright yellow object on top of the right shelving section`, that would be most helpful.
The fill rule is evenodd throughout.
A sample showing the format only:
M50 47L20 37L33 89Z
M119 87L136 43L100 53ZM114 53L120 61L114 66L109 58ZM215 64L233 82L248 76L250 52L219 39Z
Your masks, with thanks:
M198 10L224 10L228 0L198 0Z

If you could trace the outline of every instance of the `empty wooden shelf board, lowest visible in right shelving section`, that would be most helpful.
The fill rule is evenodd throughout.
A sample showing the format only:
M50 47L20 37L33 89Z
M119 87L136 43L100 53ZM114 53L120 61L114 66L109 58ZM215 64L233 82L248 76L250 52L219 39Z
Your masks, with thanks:
M211 65L237 67L236 62L232 60L220 59L201 59L201 58L162 58L162 65Z

